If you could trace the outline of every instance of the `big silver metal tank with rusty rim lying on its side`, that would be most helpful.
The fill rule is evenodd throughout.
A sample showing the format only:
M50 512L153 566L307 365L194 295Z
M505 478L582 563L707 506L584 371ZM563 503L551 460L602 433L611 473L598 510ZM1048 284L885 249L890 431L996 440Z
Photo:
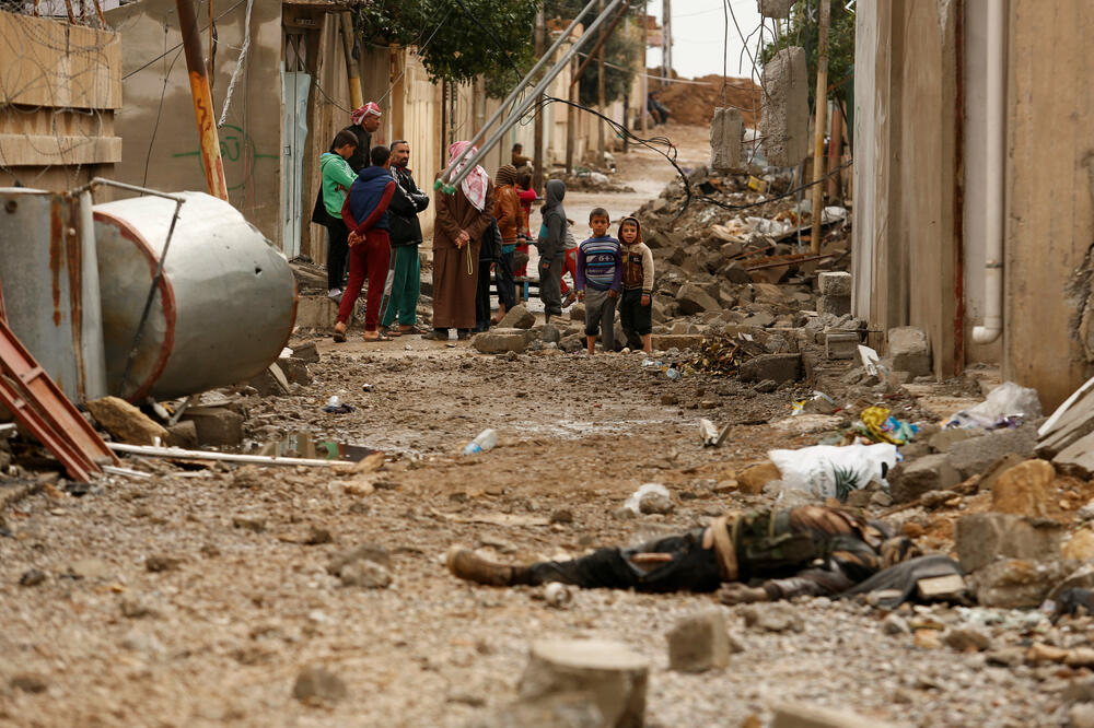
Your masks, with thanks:
M292 270L263 234L223 200L179 196L186 202L125 384L175 202L150 196L94 207L107 387L131 400L246 381L278 357L296 316Z

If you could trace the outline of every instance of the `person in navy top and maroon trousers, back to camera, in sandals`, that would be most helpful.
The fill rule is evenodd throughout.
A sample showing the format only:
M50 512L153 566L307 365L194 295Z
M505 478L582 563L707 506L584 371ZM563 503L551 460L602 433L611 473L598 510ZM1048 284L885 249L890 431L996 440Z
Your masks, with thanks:
M335 341L346 340L346 328L353 314L353 304L361 293L365 277L369 278L369 297L364 309L364 340L386 341L377 325L384 296L392 283L388 262L392 242L388 236L391 222L387 207L395 196L395 179L391 173L392 152L376 146L370 154L372 166L365 167L349 188L342 219L349 227L349 283L338 307Z

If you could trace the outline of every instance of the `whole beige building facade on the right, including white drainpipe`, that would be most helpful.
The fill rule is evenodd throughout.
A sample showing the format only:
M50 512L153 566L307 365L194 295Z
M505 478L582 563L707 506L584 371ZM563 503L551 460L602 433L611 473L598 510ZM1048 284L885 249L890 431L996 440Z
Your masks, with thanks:
M859 2L854 313L1059 404L1094 367L1086 3Z

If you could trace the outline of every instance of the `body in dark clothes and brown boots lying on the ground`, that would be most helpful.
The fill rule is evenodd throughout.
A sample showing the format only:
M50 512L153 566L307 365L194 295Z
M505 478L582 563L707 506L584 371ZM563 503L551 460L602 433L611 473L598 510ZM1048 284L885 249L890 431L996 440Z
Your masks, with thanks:
M836 596L881 570L919 556L909 539L841 508L735 513L706 528L572 561L494 564L454 547L449 570L492 586L561 582L647 592L718 591L725 603Z

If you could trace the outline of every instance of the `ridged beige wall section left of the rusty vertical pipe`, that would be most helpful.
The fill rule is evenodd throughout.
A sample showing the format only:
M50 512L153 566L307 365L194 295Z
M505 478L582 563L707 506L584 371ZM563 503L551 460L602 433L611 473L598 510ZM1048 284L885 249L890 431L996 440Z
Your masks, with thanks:
M959 7L864 2L857 16L853 305L880 328L927 331L941 376L956 366Z

